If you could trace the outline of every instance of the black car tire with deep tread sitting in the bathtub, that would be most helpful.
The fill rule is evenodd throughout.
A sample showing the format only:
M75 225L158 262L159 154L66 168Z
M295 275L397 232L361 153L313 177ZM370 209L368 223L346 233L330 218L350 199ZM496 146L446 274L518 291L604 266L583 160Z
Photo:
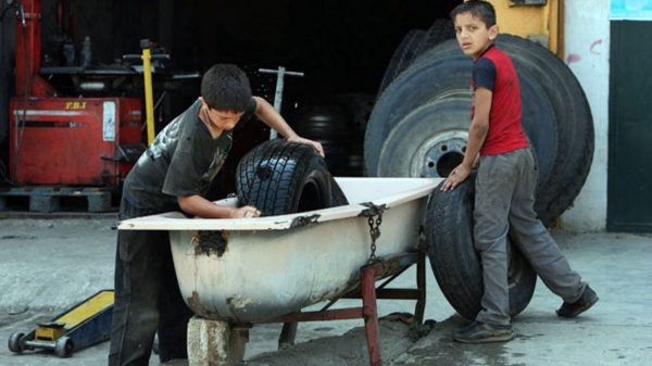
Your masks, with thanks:
M347 204L324 159L310 146L274 139L247 153L236 169L242 205L263 216Z

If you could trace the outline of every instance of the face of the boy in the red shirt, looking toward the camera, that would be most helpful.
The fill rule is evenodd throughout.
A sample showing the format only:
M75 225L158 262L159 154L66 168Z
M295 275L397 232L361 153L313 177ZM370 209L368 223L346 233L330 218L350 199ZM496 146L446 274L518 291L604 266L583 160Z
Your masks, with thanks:
M498 26L487 28L487 24L471 13L455 16L455 35L464 54L479 58L498 36Z

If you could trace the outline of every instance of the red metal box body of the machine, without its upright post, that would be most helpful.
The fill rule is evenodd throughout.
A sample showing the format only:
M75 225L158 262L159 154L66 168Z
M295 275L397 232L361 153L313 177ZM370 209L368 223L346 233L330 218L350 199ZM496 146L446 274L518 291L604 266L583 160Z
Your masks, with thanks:
M16 185L117 186L143 150L138 99L16 97L10 111Z

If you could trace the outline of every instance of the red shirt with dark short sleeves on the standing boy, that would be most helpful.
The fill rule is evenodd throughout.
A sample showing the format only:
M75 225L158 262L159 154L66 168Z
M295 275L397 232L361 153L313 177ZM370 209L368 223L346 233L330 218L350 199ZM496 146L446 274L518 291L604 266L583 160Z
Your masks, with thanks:
M490 46L473 65L471 91L477 88L491 90L489 131L480 149L480 155L497 155L527 148L529 142L521 124L521 88L512 59ZM472 119L475 116L473 98Z

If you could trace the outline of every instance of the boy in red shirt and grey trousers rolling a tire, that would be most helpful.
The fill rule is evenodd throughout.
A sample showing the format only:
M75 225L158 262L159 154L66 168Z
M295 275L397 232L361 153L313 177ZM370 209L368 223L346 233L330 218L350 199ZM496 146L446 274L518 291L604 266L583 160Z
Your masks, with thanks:
M598 295L570 269L556 242L534 211L537 165L521 123L518 75L493 40L496 11L487 1L469 0L451 12L462 51L473 56L472 124L464 161L442 186L454 189L479 161L475 181L474 244L482 263L485 292L475 321L453 335L460 342L509 341L510 319L506 236L515 241L548 288L564 299L557 315L575 317Z

